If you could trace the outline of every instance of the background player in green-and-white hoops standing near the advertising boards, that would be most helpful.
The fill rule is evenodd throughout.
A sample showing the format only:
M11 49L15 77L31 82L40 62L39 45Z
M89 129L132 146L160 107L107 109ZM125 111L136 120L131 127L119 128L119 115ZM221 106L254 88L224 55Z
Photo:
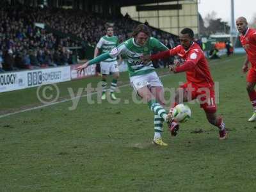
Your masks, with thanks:
M117 36L113 35L113 27L108 26L107 34L100 38L95 50L94 50L94 58L97 57L99 52L105 53L111 51L114 47L118 45L118 38ZM107 91L107 76L111 73L113 74L113 80L110 86L110 96L111 99L116 100L115 97L115 90L116 90L116 83L117 79L119 78L119 70L118 70L118 63L115 58L108 58L107 60L100 62L100 70L102 74L102 100L106 99L106 91Z

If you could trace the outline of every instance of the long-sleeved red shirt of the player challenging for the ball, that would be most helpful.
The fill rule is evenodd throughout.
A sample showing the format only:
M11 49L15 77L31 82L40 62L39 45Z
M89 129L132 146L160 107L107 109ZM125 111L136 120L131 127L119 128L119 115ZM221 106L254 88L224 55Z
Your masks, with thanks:
M211 87L214 86L214 82L212 80L210 68L208 62L204 56L204 52L200 48L198 44L195 42L191 45L191 47L185 51L182 45L178 45L173 49L168 51L159 52L158 54L154 54L150 56L151 60L157 60L161 58L167 58L169 56L178 55L185 62L193 62L194 67L186 71L186 77L188 83L193 83L198 87Z

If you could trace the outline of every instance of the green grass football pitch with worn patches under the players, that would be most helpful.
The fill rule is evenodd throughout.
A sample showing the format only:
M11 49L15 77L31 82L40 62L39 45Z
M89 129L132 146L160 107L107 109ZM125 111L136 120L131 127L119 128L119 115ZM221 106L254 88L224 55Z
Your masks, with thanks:
M0 191L255 191L256 124L247 122L243 61L244 55L210 61L229 132L224 141L199 105L189 104L192 117L177 137L164 125L168 147L152 145L154 115L132 101L126 72L118 104L79 92L88 83L97 87L99 77L57 84L63 102L32 110L41 105L37 88L0 93ZM164 87L186 81L166 71L157 70ZM70 100L70 90L84 96ZM28 111L3 116L22 110Z

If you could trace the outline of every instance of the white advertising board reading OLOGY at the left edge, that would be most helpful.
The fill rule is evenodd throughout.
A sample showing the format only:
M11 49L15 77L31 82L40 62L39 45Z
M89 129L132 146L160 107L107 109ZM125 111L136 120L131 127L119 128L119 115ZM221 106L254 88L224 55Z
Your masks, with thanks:
M27 76L24 72L8 72L0 74L0 93L24 89L27 86Z

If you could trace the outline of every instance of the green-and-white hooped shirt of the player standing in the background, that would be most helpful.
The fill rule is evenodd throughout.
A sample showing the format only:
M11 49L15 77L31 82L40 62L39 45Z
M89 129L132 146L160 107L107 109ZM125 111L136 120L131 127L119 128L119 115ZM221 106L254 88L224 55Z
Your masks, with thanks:
M102 36L102 38L100 38L100 40L97 44L97 48L100 49L101 53L109 52L116 46L118 46L117 36L107 36L107 35ZM116 57L115 58L109 58L106 61L107 62L116 61ZM106 62L106 61L104 61L104 62Z

